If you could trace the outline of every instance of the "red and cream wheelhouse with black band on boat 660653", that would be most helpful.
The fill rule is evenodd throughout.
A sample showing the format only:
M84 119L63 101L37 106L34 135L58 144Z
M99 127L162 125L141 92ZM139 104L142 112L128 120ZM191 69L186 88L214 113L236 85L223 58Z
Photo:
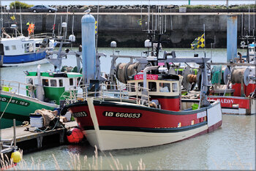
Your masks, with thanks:
M178 75L147 75L146 88L149 100L155 102L162 110L180 110L181 80ZM129 96L141 94L143 75L134 75L128 80Z

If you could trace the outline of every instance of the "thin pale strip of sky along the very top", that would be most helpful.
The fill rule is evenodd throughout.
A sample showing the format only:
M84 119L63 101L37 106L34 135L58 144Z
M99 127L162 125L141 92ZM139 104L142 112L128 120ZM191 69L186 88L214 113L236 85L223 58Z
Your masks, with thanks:
M45 5L59 5L61 1L61 5L135 5L135 4L151 4L151 5L182 5L189 4L189 0L20 0L21 2L25 2L26 4L45 4ZM218 5L226 5L228 1L229 5L232 4L256 4L256 0L190 0L190 4L218 4ZM10 5L12 1L10 0L0 0L1 5Z

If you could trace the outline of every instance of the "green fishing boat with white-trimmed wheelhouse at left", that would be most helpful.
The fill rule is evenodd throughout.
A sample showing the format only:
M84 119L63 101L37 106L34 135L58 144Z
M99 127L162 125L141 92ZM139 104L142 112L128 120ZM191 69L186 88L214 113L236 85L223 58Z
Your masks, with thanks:
M42 108L56 110L59 108L61 99L69 96L69 91L76 89L80 84L82 80L80 69L75 66L67 71L67 66L62 67L61 64L64 56L75 54L80 58L80 53L72 50L61 51L64 41L59 43L59 50L50 50L48 55L50 56L48 61L54 66L53 72L41 72L38 65L37 72L24 71L25 83L1 80L1 129L12 126L13 118L16 118L17 125L22 124L23 121L29 121L29 114L34 113L35 110ZM58 53L59 55L53 58L53 55ZM80 62L79 59L77 61Z

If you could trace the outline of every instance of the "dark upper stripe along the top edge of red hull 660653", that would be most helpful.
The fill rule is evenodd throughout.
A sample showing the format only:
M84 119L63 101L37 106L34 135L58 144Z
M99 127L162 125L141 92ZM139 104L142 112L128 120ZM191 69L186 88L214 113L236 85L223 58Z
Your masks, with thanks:
M69 104L67 106L67 108L72 108L72 107L78 107L78 106L88 106L87 102L77 102L77 103L74 103L74 104ZM203 112L203 111L206 111L206 109L208 107L202 107L200 108L199 110L188 110L188 111L181 111L181 112L177 112L177 111L170 111L170 110L162 110L162 109L157 109L157 108L154 108L154 107L144 107L144 106L131 106L131 105L127 105L127 104L116 104L116 103L113 103L113 102L106 102L106 101L102 101L102 102L99 102L99 101L94 101L94 106L97 107L97 106L101 106L101 107L122 107L122 108L131 108L132 109L138 109L138 110L146 110L146 111L151 111L151 112L154 112L154 113L162 113L162 114L168 114L168 115L193 115L193 114L196 114L196 113L200 113L200 112Z

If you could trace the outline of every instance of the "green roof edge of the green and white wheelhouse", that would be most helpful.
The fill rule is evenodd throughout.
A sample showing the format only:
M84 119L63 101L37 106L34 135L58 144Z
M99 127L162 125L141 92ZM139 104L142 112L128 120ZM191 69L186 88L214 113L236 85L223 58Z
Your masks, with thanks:
M37 76L37 72L28 72L27 77ZM83 77L78 72L41 72L42 77Z

